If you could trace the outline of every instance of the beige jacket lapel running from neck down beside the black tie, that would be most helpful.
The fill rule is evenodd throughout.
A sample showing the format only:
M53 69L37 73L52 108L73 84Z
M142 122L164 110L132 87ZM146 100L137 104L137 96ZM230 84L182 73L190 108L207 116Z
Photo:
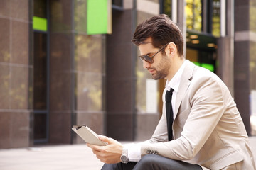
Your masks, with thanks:
M178 113L178 109L181 106L181 101L182 98L184 96L184 94L186 93L186 90L188 89L189 84L191 83L190 79L193 76L193 68L195 67L195 64L193 64L192 62L186 60L185 61L185 68L183 70L183 73L181 75L181 82L180 85L178 87L178 94L176 96L176 103L175 103L175 117L174 120L177 116Z

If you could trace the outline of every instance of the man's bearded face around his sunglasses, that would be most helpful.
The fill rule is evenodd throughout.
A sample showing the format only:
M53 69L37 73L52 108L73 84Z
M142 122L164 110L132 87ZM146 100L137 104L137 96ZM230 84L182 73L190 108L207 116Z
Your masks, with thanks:
M155 48L152 45L151 38L146 39L145 42L145 44L139 45L139 51L141 52L141 55L152 56L159 51L159 48ZM146 62L145 60L143 60L142 62L144 69L147 69L149 71L149 73L152 76L152 79L164 79L169 74L171 61L169 60L169 57L167 57L165 53L164 55L161 52L157 53L154 56L154 63L152 64Z

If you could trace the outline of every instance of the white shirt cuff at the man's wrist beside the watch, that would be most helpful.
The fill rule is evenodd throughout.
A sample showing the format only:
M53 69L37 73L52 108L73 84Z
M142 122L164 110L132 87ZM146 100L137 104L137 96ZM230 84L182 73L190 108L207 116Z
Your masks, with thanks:
M124 147L127 149L129 162L139 162L142 159L141 146L139 144L126 144Z

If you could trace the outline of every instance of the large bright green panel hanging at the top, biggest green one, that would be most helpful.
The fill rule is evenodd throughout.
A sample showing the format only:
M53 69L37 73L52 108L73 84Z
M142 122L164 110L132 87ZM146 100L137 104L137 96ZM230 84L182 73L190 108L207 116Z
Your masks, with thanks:
M87 34L107 33L107 1L87 0Z

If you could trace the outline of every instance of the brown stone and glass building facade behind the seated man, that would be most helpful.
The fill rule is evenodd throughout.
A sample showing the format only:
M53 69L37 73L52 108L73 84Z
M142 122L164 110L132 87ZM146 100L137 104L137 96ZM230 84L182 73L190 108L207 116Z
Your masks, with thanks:
M255 135L255 8L244 0L0 1L0 148L82 143L77 124L117 140L151 137L165 81L142 68L131 39L159 13L181 28L186 58L227 84Z

